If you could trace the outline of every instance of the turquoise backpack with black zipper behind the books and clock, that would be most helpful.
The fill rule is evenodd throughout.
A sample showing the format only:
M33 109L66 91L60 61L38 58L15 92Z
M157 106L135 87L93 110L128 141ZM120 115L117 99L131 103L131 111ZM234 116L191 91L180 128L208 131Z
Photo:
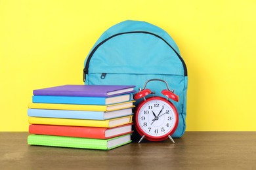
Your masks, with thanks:
M135 85L137 91L152 78L165 80L179 102L171 101L179 112L179 125L172 137L186 129L186 64L173 39L160 27L127 20L107 29L85 59L83 81L87 85ZM166 84L150 82L147 88L162 96ZM136 101L137 105L140 101Z

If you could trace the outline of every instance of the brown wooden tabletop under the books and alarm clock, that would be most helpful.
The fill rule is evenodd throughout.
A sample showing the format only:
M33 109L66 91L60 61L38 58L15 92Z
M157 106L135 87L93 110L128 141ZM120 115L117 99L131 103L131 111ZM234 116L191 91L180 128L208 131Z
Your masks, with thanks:
M0 132L0 169L256 169L256 131L186 132L113 150L30 146L27 132Z

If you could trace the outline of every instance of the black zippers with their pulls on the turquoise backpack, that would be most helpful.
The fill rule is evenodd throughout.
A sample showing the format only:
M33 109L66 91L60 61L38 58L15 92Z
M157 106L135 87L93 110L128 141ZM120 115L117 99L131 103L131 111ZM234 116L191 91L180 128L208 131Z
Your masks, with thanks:
M146 34L150 34L150 35L154 35L155 37L158 37L159 39L161 39L162 41L164 41L174 52L175 54L179 57L179 59L181 59L181 62L182 62L182 65L183 65L183 68L184 68L184 76L187 76L188 75L188 71L186 69L186 64L184 62L184 60L181 58L181 55L167 42L165 41L165 39L163 39L162 37L160 37L159 35L156 35L154 33L150 33L150 32L147 32L147 31L130 31L130 32L125 32L125 33L117 33L115 35L112 35L110 37L108 37L107 39L104 39L104 41L98 43L95 48L93 48L93 50L91 51L91 53L89 54L88 58L87 58L87 61L85 63L85 68L83 69L83 82L85 82L85 78L86 78L86 74L89 73L89 62L93 56L93 54L96 52L96 50L98 49L98 47L100 47L102 44L104 44L104 42L118 36L118 35L123 35L123 34L129 34L129 33L146 33ZM102 73L103 74L103 73ZM106 73L104 73L105 75L103 76L105 78L106 76ZM102 79L104 79L102 78Z

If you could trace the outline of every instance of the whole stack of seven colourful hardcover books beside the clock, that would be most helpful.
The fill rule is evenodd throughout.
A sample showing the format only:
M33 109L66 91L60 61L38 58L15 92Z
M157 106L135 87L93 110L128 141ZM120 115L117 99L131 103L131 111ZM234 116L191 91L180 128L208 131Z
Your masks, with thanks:
M135 86L64 85L33 91L28 144L109 150L131 142Z

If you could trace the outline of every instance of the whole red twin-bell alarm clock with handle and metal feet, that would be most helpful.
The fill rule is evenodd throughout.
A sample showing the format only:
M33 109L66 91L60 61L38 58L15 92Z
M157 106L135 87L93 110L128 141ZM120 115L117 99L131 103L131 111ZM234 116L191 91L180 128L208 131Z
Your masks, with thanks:
M150 89L146 89L146 85L150 81L161 81L167 86L167 89L161 91L164 97L155 96L154 92ZM147 95L153 94L152 97L146 97ZM167 82L161 79L150 79L148 80L144 88L140 89L135 94L134 99L143 98L139 105L135 109L135 128L138 133L142 136L142 139L148 141L163 141L165 139L171 139L171 135L177 129L179 123L179 114L177 109L169 99L173 101L179 101L179 96L174 93L174 90L170 90Z

